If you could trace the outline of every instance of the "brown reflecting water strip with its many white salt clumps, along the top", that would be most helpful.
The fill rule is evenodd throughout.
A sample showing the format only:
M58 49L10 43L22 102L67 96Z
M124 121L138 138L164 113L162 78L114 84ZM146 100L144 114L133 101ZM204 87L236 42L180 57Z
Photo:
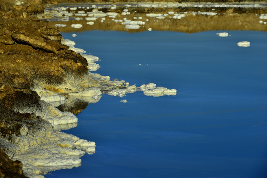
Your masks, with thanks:
M61 32L267 30L265 4L62 4L40 18Z

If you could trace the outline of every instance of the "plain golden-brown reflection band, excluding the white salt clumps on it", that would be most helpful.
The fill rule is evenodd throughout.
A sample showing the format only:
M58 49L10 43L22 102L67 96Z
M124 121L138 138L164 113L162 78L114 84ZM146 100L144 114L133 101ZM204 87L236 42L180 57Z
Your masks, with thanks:
M89 30L114 30L114 31L127 31L127 32L141 32L146 31L148 28L158 31L176 31L184 33L196 33L201 31L211 30L253 30L253 31L267 31L267 26L263 23L259 23L260 14L267 14L267 7L265 8L147 8L147 7L128 7L129 15L122 15L124 7L116 7L116 9L99 8L99 11L116 12L118 15L116 18L105 17L105 21L102 23L101 18L93 21L93 25L87 24L85 17L76 16L82 18L79 21L50 21L50 26L56 24L64 24L66 27L58 27L61 32L81 32ZM81 9L77 9L79 11ZM90 12L92 9L83 9L85 12ZM184 14L185 17L181 19L172 18L173 15L168 12L176 12L177 14ZM72 11L75 13L74 11ZM77 12L76 12L77 13ZM168 14L164 19L158 19L155 17L148 17L146 14ZM206 15L201 13L216 13L216 15ZM75 17L75 16L71 16ZM127 29L121 22L115 20L134 20L136 17L141 17L141 21L145 22L144 25L140 25L139 29ZM58 18L60 19L60 18ZM138 20L138 19L137 19ZM147 21L148 20L148 21ZM267 20L264 20L267 21ZM79 23L83 25L81 28L75 29L71 27L72 24Z

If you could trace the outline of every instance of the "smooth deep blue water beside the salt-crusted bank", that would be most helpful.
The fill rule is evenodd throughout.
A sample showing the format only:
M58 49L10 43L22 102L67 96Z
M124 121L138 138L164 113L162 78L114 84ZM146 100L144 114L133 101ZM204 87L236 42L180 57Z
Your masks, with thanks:
M101 59L96 73L177 95L103 95L65 131L96 153L46 177L266 178L267 32L217 32L62 33Z

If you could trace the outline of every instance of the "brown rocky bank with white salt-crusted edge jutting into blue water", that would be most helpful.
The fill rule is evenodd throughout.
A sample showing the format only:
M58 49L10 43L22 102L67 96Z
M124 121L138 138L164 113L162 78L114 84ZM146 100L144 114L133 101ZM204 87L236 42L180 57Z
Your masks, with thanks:
M79 166L81 156L93 154L94 142L61 132L77 124L72 113L80 111L75 105L86 107L104 93L117 96L137 90L147 95L174 93L156 88L155 84L137 88L125 81L111 81L108 76L90 73L88 65L93 63L94 56L68 50L59 30L35 16L43 13L47 3L60 2L89 1L0 0L0 178L43 177L53 170Z

